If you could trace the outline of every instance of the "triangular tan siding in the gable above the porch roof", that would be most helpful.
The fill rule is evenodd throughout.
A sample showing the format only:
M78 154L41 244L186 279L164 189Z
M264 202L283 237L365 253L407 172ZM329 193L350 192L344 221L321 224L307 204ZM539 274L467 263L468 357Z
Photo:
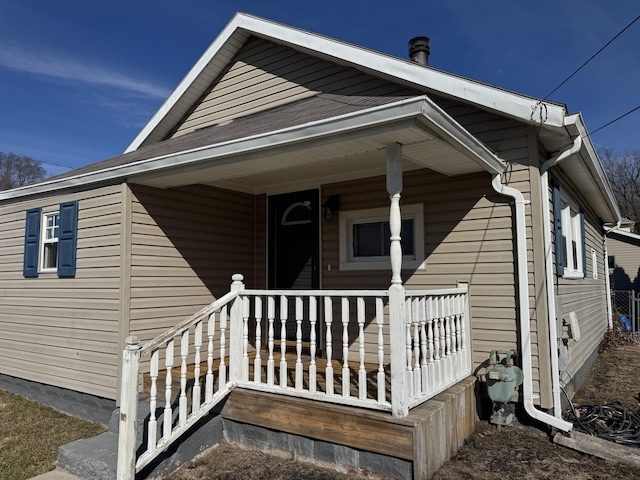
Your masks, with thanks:
M172 136L292 103L319 92L388 96L408 90L354 69L253 38Z

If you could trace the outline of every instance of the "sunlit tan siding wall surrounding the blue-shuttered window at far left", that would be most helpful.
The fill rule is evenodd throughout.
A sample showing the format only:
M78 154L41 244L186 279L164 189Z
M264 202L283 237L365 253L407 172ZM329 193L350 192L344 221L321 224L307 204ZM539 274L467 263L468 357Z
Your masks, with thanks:
M116 398L120 186L0 209L0 373ZM75 278L24 278L25 212L78 200Z

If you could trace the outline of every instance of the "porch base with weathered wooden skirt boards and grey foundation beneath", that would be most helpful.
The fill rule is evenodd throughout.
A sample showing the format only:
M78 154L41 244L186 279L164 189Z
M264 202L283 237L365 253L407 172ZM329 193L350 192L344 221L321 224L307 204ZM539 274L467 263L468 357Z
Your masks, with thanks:
M222 410L225 436L347 469L429 479L475 428L475 383L468 377L405 418L239 388Z

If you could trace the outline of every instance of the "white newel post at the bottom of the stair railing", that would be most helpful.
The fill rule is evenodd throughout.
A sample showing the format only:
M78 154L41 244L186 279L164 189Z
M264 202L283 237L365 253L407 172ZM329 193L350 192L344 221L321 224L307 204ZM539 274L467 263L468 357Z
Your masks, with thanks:
M122 353L120 389L120 430L118 433L118 480L134 480L136 476L136 434L138 426L138 372L140 340L127 337Z

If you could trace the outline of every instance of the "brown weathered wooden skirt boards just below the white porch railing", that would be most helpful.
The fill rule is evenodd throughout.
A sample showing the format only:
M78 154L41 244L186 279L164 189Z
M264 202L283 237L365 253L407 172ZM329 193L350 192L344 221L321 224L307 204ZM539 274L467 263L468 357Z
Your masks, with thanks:
M413 478L422 480L431 478L473 432L477 421L475 381L475 377L466 378L412 409L405 418L241 388L230 394L221 414L224 421L407 461ZM288 451L291 446L291 442L279 447L272 443L263 448ZM252 445L261 447L256 442ZM368 465L358 468L370 469Z

